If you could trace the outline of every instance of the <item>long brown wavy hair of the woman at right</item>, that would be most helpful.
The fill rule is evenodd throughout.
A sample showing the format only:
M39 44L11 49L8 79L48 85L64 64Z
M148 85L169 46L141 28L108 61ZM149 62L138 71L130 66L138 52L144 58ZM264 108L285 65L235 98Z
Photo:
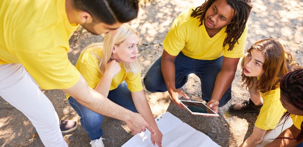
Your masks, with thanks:
M242 71L241 82L244 82L242 86L246 84L247 90L250 90L249 85L255 85L256 91L260 90L260 92L267 94L279 87L281 77L288 71L301 68L298 63L294 63L291 54L284 51L281 43L274 39L260 40L251 45L247 52L250 53L252 50L260 51L265 56L264 74L258 79L257 83L254 83L254 77L245 76Z

